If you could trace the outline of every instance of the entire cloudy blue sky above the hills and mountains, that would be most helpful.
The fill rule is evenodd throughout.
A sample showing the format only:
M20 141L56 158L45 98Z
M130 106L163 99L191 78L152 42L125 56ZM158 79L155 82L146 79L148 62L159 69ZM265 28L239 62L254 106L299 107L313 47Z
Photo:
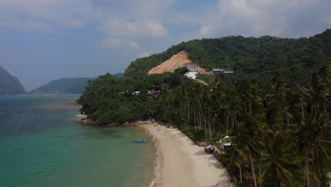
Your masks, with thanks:
M182 41L299 38L327 28L330 0L0 0L0 66L30 91L124 72Z

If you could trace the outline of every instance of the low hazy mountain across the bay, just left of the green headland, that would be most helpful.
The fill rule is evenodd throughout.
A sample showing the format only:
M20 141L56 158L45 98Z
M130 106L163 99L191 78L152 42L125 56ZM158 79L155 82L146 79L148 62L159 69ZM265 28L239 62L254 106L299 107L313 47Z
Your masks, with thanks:
M93 78L63 78L51 81L49 84L40 86L30 94L81 94L84 92L88 81Z

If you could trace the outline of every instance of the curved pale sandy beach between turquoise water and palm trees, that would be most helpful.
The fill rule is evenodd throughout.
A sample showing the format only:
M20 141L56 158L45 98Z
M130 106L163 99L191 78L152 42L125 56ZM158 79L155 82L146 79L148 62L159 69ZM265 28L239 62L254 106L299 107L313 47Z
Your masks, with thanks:
M212 154L204 152L180 130L141 125L158 141L161 156L160 176L153 186L228 187L235 186L226 169Z

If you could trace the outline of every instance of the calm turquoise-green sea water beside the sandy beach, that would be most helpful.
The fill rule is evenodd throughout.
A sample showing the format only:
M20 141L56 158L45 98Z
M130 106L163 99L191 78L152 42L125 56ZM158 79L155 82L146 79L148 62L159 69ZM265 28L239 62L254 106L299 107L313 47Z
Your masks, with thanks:
M75 122L78 96L0 97L0 186L148 186L153 145L140 128Z

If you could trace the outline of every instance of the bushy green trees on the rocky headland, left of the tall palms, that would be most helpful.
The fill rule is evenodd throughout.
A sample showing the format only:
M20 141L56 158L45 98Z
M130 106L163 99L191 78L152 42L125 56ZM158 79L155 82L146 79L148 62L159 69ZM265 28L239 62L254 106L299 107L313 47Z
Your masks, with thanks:
M147 96L147 92L151 89L160 91L161 85L172 89L181 82L181 76L173 73L153 74L141 79L118 79L105 74L91 81L78 102L82 105L81 111L88 114L88 118L101 124L146 120L156 115L156 100ZM140 91L141 95L134 96L134 91Z

